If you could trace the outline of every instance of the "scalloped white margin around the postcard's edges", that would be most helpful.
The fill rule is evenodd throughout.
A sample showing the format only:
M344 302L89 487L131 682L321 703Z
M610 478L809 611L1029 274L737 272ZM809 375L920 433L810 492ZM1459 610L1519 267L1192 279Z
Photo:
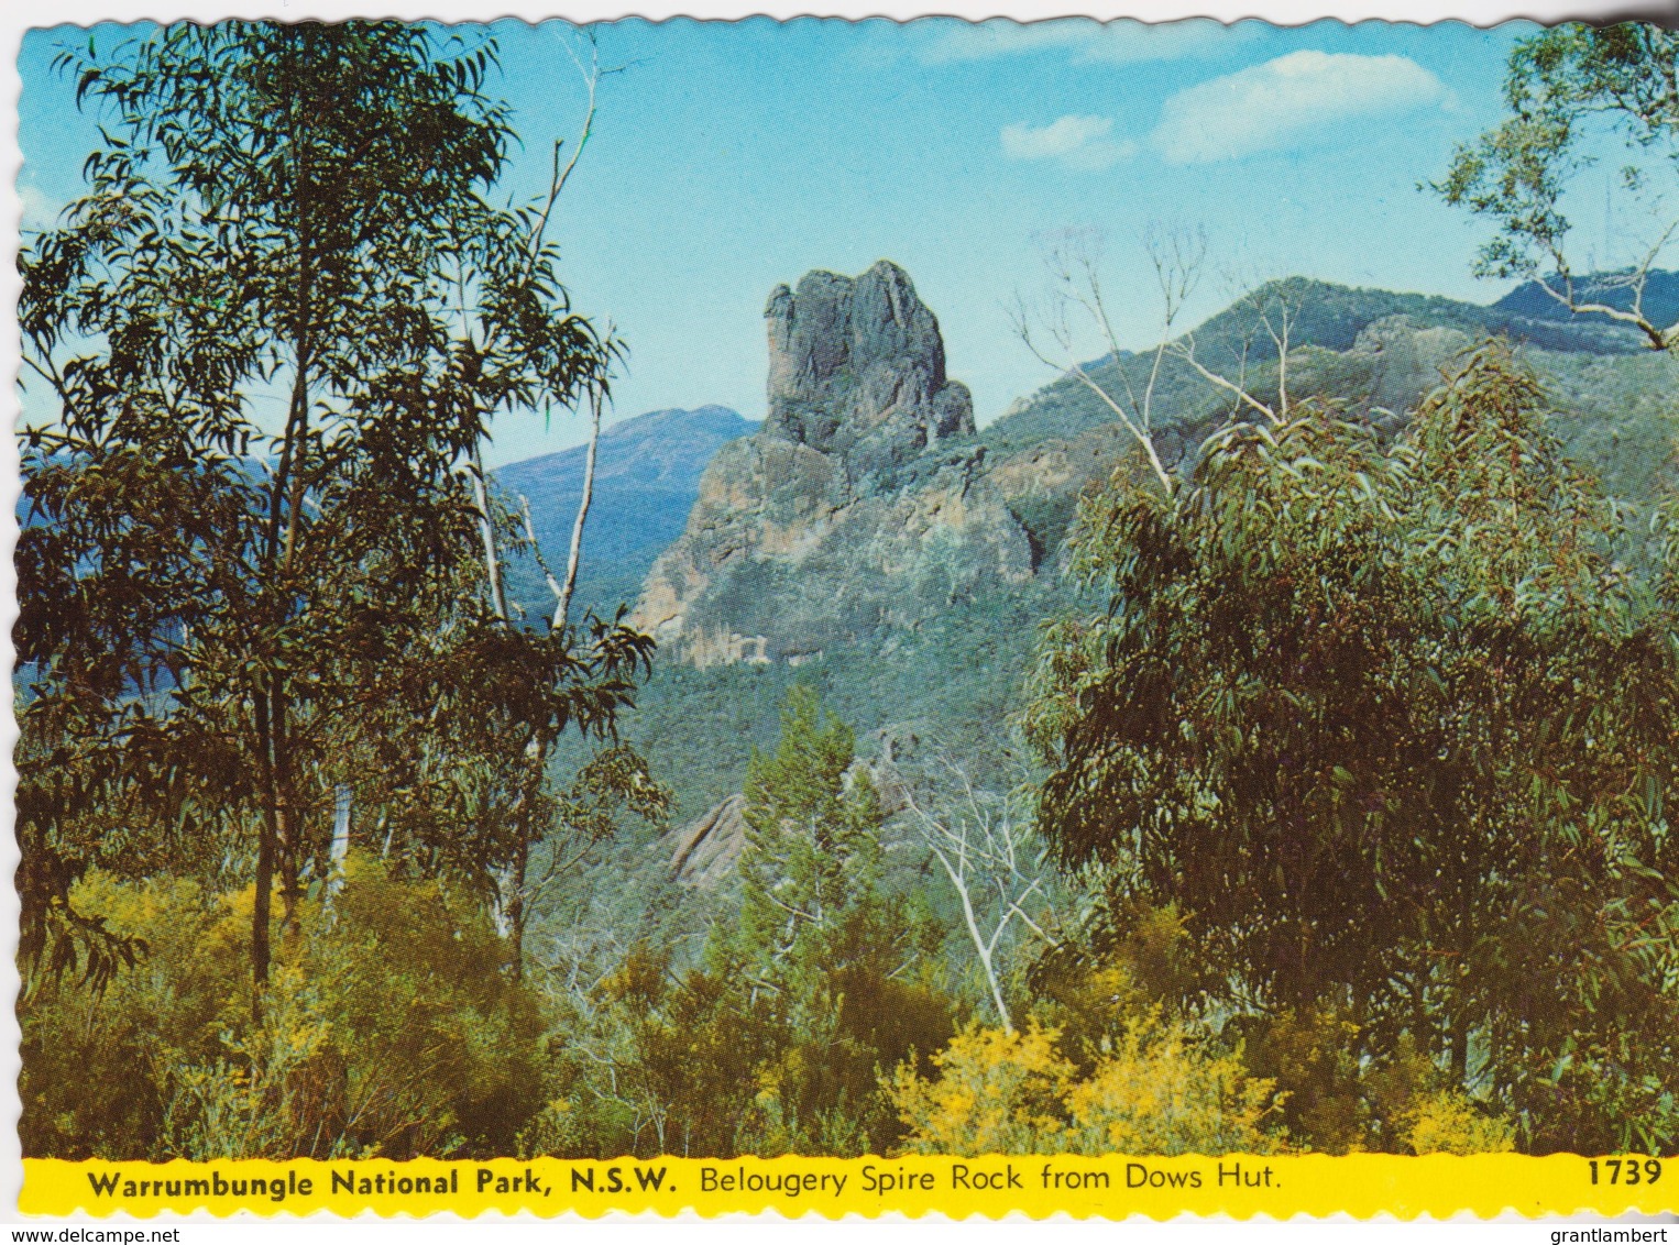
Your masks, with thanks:
M1315 22L1321 18L1338 18L1343 22L1365 22L1365 20L1389 20L1389 22L1407 22L1407 23L1434 23L1434 22L1466 22L1469 25L1488 27L1506 20L1535 20L1535 22L1561 22L1570 18L1582 18L1592 22L1614 22L1625 18L1642 18L1654 20L1664 25L1679 25L1679 0L1207 0L1206 3L1194 3L1192 0L945 0L945 3L920 3L918 0L816 0L814 3L801 3L801 0L643 0L643 3L626 3L626 0L571 0L569 3L557 3L556 0L371 0L371 3L354 3L354 0L225 0L223 3L212 3L208 0L0 0L0 101L3 101L5 117L0 122L0 220L7 221L7 238L5 238L5 263L0 265L0 383L3 383L3 403L0 409L7 413L7 418L15 425L20 416L20 404L17 396L18 381L18 329L17 329L17 297L18 297L18 275L17 275L17 253L22 235L22 218L24 205L17 193L17 178L22 169L24 159L17 144L17 117L18 117L18 96L22 92L22 79L18 77L17 60L22 49L24 32L32 27L62 25L62 23L79 23L89 25L94 22L138 22L138 20L200 20L213 22L223 17L247 17L247 18L279 18L285 22L302 22L309 18L316 20L343 20L349 17L395 17L403 20L421 20L433 18L442 22L490 22L504 17L519 17L526 20L544 20L551 17L562 17L571 22L606 22L620 17L645 17L651 20L663 20L670 17L697 17L697 18L714 18L714 20L735 20L744 17L838 17L838 18L865 18L865 17L890 17L895 20L910 20L915 17L962 17L969 20L984 20L991 17L1007 17L1019 22L1036 22L1054 17L1096 17L1096 18L1115 18L1115 17L1135 17L1150 22L1170 22L1185 17L1212 17L1221 22L1236 22L1247 17L1264 18L1278 25L1303 25L1306 22ZM10 671L13 661L12 649L12 624L17 619L17 602L15 602L15 572L12 565L12 550L17 544L17 522L15 515L15 498L18 490L17 471L17 443L12 436L0 436L0 661L3 661L5 669ZM5 804L0 805L0 822L3 822L3 834L0 834L0 945L5 951L0 955L0 998L5 1000L5 1007L0 1007L0 1223L29 1223L34 1220L24 1220L17 1211L17 1198L22 1188L22 1153L17 1138L17 1119L18 1119L18 1096L17 1096L17 1074L18 1074L18 1025L17 1013L13 1010L12 1000L17 997L17 963L15 963L15 943L17 943L17 891L12 886L13 873L17 871L18 854L17 854L17 837L12 831L12 792L15 785L15 775L12 772L12 747L17 742L17 725L12 716L12 700L10 696L0 698L5 701L3 710L0 710L0 787L5 792ZM381 1222L384 1227L374 1227L378 1233L395 1233L401 1232L405 1237L415 1232L425 1233L426 1230L448 1230L452 1238L455 1233L479 1235L479 1232L487 1230L487 1225L494 1220L477 1220L473 1225L467 1225L455 1216L437 1216L437 1222L421 1227L415 1223L398 1223L398 1222ZM618 1218L618 1216L613 1216ZM625 1216L631 1218L631 1216ZM1471 1216L1472 1218L1472 1216ZM1666 1216L1669 1222L1679 1222L1679 1216ZM448 1223L453 1220L453 1223ZM94 1222L94 1220L87 1220ZM123 1216L112 1216L111 1220L99 1220L107 1227L121 1227L124 1223ZM180 1220L191 1227L186 1228L186 1240L191 1240L198 1232L203 1232L200 1225L220 1225L217 1237L223 1238L223 1233L235 1233L247 1228L243 1223L228 1223L225 1220L215 1220L208 1213L193 1215L191 1218ZM546 1240L552 1240L554 1235L576 1233L576 1232L601 1232L611 1230L608 1225L613 1220L584 1223L576 1216L566 1216L561 1220L546 1222L544 1232ZM715 1233L732 1233L737 1232L742 1223L751 1222L761 1227L791 1227L786 1220L777 1215L766 1216L727 1216L725 1220L714 1220L704 1225L688 1225L692 1232L700 1227L707 1235ZM136 1222L128 1220L129 1227L141 1227L143 1230L156 1227L160 1220ZM327 1211L311 1216L307 1228L304 1220L290 1220L290 1223L269 1223L257 1227L250 1223L247 1230L257 1230L265 1233L272 1240L272 1233L285 1233L290 1238L301 1235L301 1232L309 1232L311 1237L319 1232L327 1232L332 1235L334 1227L341 1232L366 1232L369 1223L356 1222L354 1227L336 1220ZM445 1227L447 1225L447 1227ZM480 1227L484 1225L484 1227ZM507 1220L509 1227L519 1228L536 1228L534 1222L517 1223ZM44 1225L42 1225L44 1227ZM648 1223L646 1218L638 1220L630 1225L631 1230L658 1230L662 1223ZM873 1232L876 1225L861 1220L853 1220L848 1223L826 1223L826 1225L809 1225L801 1223L799 1232L843 1232L848 1238L856 1238L863 1232ZM880 1223L885 1230L905 1230L907 1223ZM1431 1222L1414 1222L1409 1225L1399 1225L1389 1220L1355 1223L1352 1220L1343 1220L1340 1223L1323 1223L1315 1225L1308 1230L1330 1232L1335 1233L1335 1240L1342 1240L1347 1235L1358 1235L1362 1238L1370 1237L1373 1232L1383 1233L1402 1233L1414 1240L1420 1233L1429 1232L1447 1232L1462 1233L1474 1230L1499 1232L1504 1230L1508 1240L1538 1242L1548 1240L1548 1232L1541 1228L1540 1222L1521 1220L1519 1230L1521 1237L1514 1235L1518 1225L1486 1225L1481 1227L1469 1223L1431 1223ZM623 1225L618 1227L623 1230ZM920 1222L910 1228L917 1235L932 1232L935 1235L945 1237L952 1232L960 1232L962 1237L969 1237L972 1232L1017 1232L1019 1223L952 1223L945 1220L944 1223ZM1118 1225L1096 1225L1083 1223L1076 1225L1073 1222L1036 1225L1034 1232L1056 1232L1086 1235L1093 1232L1103 1233L1105 1238L1111 1240L1111 1233L1120 1230ZM1189 1232L1192 1238L1229 1238L1234 1230L1239 1230L1244 1238L1251 1238L1253 1233L1271 1240L1283 1242L1293 1237L1300 1228L1291 1223L1279 1222L1247 1222L1242 1225L1221 1225L1209 1223L1206 1220L1179 1220L1174 1225L1142 1225L1127 1222L1123 1232L1127 1235L1133 1232L1143 1232L1150 1235L1162 1232L1172 1232L1174 1237L1182 1232ZM1679 1232L1669 1230L1669 1237L1679 1242ZM1484 1240L1484 1237L1479 1237ZM442 1237L438 1237L442 1240Z

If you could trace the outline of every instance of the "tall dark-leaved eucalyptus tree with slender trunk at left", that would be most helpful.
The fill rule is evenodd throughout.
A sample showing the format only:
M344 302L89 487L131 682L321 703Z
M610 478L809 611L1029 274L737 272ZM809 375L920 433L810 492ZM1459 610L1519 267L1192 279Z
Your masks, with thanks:
M512 532L482 490L489 419L599 393L611 361L490 201L515 141L495 57L393 22L60 57L104 143L22 258L25 362L57 404L27 433L18 547L27 953L131 953L69 904L89 864L220 861L255 881L260 993L274 883L290 914L348 758L395 748L416 780L477 758L494 785L510 738L626 703L648 641L514 629L485 592L485 532ZM403 805L416 862L484 876L505 802L460 785L383 784L386 834Z

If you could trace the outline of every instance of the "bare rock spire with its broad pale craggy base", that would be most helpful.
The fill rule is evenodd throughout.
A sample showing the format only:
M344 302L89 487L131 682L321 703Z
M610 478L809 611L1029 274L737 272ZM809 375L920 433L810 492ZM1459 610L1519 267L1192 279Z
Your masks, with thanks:
M799 661L1031 577L967 388L908 275L808 273L764 310L769 413L700 480L635 622L707 666Z

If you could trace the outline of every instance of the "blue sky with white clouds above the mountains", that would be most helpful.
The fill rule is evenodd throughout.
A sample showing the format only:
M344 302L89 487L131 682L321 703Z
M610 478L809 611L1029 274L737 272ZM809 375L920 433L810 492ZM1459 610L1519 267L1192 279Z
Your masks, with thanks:
M524 198L581 119L566 47L583 40L556 22L492 30L527 141L507 191ZM1419 183L1498 119L1506 54L1531 25L752 18L594 32L601 64L621 72L601 84L557 238L578 309L630 346L618 416L722 403L761 418L769 290L892 258L939 315L950 374L992 419L1049 379L1007 307L1043 287L1043 242L1064 230L1101 232L1132 346L1155 326L1142 237L1160 225L1209 238L1190 319L1224 305L1232 282L1288 273L1503 292L1471 275L1486 227ZM72 84L47 70L59 44L86 37L24 40L25 228L77 193L97 139ZM29 399L25 411L37 414ZM504 418L494 460L562 448L578 425Z

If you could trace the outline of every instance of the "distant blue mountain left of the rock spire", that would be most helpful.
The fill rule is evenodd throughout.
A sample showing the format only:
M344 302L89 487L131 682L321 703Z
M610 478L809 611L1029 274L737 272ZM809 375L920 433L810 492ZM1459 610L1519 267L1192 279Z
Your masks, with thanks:
M725 406L697 411L650 411L601 433L594 463L594 498L578 569L578 609L608 614L635 604L653 559L682 535L700 495L700 473L712 456L756 431L757 425ZM531 502L531 524L556 576L564 574L571 527L583 497L586 446L526 458L495 471L495 482L517 505ZM554 599L534 564L509 567L509 591L532 616L547 614Z

